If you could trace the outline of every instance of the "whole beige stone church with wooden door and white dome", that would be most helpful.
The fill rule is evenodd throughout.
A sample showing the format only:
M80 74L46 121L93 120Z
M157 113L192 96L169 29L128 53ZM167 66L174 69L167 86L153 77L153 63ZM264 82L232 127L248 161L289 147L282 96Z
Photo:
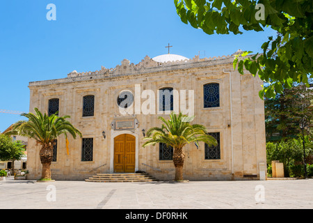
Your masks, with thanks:
M200 142L184 148L185 179L264 180L264 102L258 94L262 81L234 70L233 55L145 56L138 64L125 59L115 68L73 71L63 79L29 83L30 112L38 107L48 114L69 115L83 134L69 138L68 154L65 138L57 139L52 178L84 180L99 173L145 171L159 180L172 180L172 148L143 148L143 138L147 130L161 126L159 116L184 110L195 116L192 123L206 126L218 141L217 146ZM37 180L40 147L29 139L28 148L29 179Z

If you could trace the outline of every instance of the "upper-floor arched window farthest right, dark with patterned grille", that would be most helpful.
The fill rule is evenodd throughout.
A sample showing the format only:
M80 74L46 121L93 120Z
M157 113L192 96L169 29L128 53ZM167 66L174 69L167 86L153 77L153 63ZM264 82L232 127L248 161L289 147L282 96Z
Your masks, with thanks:
M204 107L220 107L220 84L204 84L203 100Z

